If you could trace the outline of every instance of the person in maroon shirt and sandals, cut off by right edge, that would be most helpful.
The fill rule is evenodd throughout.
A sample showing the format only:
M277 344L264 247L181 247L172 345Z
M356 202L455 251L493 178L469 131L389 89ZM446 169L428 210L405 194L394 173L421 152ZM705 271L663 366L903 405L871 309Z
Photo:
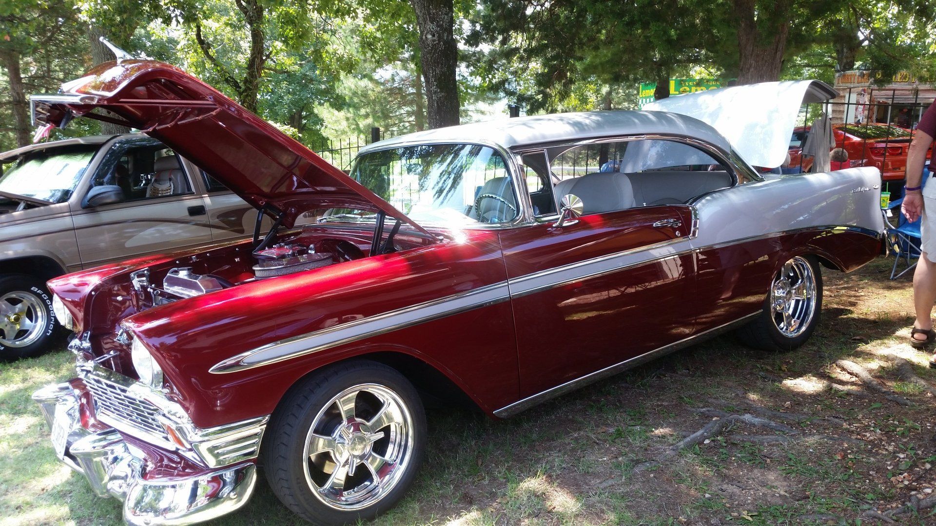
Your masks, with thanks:
M936 302L936 183L929 183L923 189L923 165L927 160L927 151L936 137L936 104L929 106L920 124L916 128L910 153L907 154L907 186L901 211L909 221L915 221L922 215L920 236L922 254L914 270L914 307L916 321L911 329L911 344L924 348L936 340L932 328L933 303ZM929 171L936 172L936 165L930 160ZM936 368L936 357L929 360L929 367Z

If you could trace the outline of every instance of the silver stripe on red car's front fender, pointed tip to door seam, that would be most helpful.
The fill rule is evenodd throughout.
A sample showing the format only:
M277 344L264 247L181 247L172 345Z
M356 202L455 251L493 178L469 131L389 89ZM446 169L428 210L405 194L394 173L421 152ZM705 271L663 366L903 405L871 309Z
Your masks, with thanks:
M487 307L509 299L507 282L486 285L438 300L425 301L411 307L360 318L328 329L261 345L256 349L218 362L209 371L211 373L245 371L261 365L310 355L344 343L371 338L452 314Z

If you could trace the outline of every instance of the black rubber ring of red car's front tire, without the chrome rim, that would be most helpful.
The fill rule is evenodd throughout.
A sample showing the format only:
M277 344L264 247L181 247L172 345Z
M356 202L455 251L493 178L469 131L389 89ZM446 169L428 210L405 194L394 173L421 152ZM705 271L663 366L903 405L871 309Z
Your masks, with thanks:
M303 463L297 460L304 459L307 433L323 405L345 388L358 384L379 384L400 396L413 418L413 449L406 472L384 498L363 509L341 511L318 500L306 483ZM264 439L261 461L271 489L286 507L315 524L370 520L397 504L416 478L427 434L426 417L417 390L402 374L381 363L365 360L329 367L300 381L286 394L267 432L270 439Z

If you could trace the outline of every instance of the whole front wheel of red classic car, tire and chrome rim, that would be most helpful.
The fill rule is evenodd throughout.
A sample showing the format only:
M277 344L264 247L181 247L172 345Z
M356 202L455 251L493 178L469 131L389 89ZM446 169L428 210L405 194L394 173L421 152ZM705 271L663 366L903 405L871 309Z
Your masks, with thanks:
M263 460L286 507L314 524L370 520L412 485L426 445L416 389L381 363L314 373L271 419Z

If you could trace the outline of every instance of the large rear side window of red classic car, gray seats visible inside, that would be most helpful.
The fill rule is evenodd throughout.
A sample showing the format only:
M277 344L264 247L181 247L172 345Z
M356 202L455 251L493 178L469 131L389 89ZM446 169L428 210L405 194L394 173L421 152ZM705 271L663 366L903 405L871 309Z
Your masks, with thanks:
M554 200L578 196L585 213L686 204L734 183L721 161L678 140L587 144L556 153L549 163Z

